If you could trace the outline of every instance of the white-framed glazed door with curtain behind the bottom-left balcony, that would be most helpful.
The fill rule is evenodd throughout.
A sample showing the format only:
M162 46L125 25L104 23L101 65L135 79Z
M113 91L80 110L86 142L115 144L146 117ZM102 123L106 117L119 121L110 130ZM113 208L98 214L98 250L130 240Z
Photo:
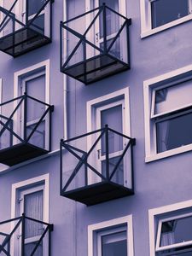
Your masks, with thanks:
M49 174L12 185L11 218L20 217L22 213L25 213L28 218L49 223ZM44 228L44 224L30 219L25 220L24 244L26 255L32 253L33 248L44 232ZM15 241L11 241L11 255L20 255L20 229L16 230ZM39 256L48 255L48 236L45 236L36 253Z

